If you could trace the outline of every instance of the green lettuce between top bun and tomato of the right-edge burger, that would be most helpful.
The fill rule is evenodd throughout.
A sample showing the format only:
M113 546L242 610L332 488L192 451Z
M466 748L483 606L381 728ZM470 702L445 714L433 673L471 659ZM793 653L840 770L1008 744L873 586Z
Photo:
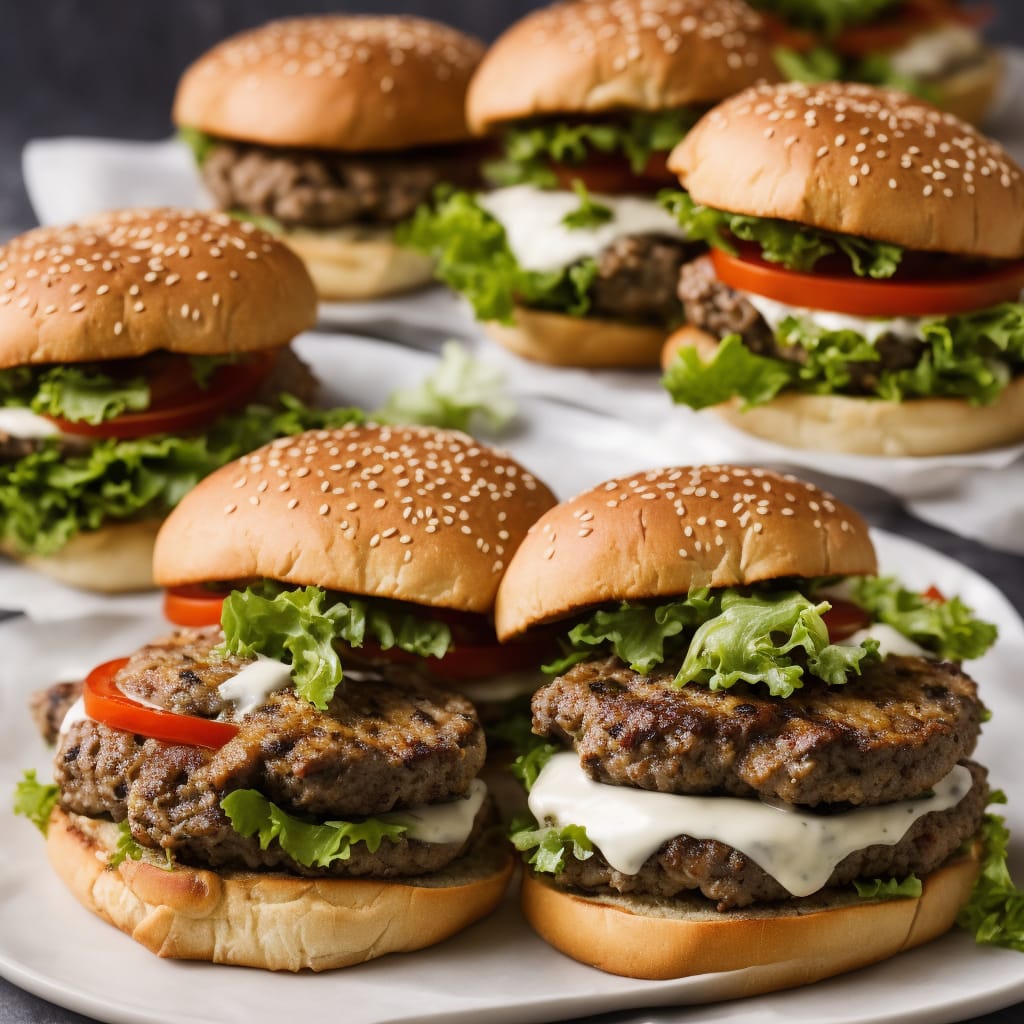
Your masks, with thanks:
M887 242L874 242L854 234L839 234L769 217L727 213L695 203L687 193L666 190L658 201L676 217L691 242L708 245L735 255L733 241L753 242L770 263L791 270L813 270L825 256L841 253L861 278L891 278L903 258L903 249Z

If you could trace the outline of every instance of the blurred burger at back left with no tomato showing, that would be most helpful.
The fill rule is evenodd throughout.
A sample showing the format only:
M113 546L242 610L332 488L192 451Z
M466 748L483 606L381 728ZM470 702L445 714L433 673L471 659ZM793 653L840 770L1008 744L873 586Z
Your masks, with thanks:
M217 205L284 239L322 298L392 295L431 278L395 226L479 180L464 100L482 52L418 17L271 22L191 65L173 119Z

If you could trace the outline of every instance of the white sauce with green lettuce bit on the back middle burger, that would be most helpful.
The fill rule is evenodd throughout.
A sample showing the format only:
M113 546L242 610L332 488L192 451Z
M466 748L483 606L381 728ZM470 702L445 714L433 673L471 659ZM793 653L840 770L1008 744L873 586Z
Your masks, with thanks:
M591 194L607 207L611 219L593 227L567 227L562 218L580 209L573 191L513 185L478 197L480 206L502 227L509 248L526 270L560 270L588 256L597 256L627 234L667 234L684 239L676 218L653 200L638 196Z

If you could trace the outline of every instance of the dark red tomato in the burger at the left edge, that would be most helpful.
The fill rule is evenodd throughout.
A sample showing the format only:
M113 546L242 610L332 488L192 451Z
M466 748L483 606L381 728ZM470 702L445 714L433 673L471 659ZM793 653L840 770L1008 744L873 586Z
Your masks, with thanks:
M48 416L47 419L66 434L118 437L122 440L193 430L245 404L262 384L276 356L276 351L259 352L244 361L220 367L205 391L191 379L182 360L175 365L170 380L160 377L152 382L153 404L143 413L125 413L96 424L65 420L57 416ZM187 381L183 374L187 374Z

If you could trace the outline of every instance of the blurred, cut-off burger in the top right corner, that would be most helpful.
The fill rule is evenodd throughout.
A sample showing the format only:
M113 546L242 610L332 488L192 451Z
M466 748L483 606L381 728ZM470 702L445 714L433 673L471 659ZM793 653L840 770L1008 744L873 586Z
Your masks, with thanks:
M980 124L1002 61L980 29L989 12L957 0L752 0L798 82L865 82L912 92Z

